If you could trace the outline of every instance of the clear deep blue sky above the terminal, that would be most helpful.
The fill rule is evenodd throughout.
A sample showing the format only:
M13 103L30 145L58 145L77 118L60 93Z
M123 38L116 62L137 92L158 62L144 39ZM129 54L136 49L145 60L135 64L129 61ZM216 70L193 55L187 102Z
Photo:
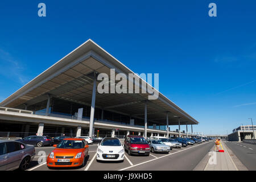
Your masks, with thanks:
M217 17L208 16L211 2ZM255 7L254 0L0 1L0 101L90 38L134 72L159 73L160 92L200 122L194 131L231 133L247 118L256 124Z

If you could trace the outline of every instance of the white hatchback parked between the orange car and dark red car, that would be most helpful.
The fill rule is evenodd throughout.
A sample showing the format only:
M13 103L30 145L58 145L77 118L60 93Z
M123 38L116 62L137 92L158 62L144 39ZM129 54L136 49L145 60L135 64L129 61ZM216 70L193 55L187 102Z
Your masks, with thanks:
M123 144L118 138L104 138L101 143L98 144L97 148L97 161L123 161L125 156L125 150Z

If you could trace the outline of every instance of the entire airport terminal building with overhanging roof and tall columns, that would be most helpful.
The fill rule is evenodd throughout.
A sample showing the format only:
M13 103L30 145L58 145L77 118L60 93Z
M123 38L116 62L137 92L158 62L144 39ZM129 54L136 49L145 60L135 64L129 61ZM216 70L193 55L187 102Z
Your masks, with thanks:
M110 69L135 75L87 40L0 103L0 137L192 135L180 133L180 125L192 129L199 122L157 90L159 97L148 100L151 93L143 86L148 83L137 75L139 85L136 78L127 82L144 92L98 93L97 75L110 75ZM179 125L179 131L170 131L170 125Z

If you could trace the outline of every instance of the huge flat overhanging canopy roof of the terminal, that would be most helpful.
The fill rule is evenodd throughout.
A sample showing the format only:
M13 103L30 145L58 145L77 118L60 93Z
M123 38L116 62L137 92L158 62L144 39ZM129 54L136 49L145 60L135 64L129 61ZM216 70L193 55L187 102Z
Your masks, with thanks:
M46 100L47 94L90 106L93 90L92 73L106 73L110 76L110 69L115 69L116 73L125 73L125 75L134 73L89 39L11 94L0 103L0 106L24 108L24 104L32 105ZM139 79L140 82L145 82L141 77ZM99 82L101 81L97 81L97 84ZM141 84L140 90L142 89ZM199 123L162 93L158 93L158 99L148 100L149 93L100 94L96 90L96 107L144 118L144 102L147 100L147 118L151 124L166 125L167 112L169 125L178 125L177 117L180 117L181 125Z

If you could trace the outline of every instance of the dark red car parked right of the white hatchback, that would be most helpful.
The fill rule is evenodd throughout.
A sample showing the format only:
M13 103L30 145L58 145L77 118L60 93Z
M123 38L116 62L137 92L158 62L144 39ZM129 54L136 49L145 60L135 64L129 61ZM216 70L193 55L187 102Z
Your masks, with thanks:
M150 146L142 136L128 135L123 143L128 155L150 155Z

